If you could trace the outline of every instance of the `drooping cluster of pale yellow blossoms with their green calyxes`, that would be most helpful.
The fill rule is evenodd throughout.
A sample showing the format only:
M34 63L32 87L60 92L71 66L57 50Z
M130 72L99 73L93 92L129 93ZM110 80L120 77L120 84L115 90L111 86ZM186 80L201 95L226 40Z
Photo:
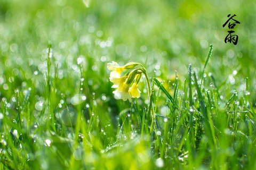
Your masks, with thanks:
M112 88L115 88L113 94L116 99L123 99L124 101L128 99L131 102L131 98L140 97L138 83L145 70L141 64L130 62L124 66L119 66L113 61L108 63L107 68L111 71L109 80L114 84ZM124 71L127 72L122 76Z

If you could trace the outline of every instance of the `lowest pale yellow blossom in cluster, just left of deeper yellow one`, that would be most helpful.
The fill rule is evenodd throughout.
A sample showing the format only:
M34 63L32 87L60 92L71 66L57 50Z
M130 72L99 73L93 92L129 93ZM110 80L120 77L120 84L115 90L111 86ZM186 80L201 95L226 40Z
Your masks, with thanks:
M115 95L116 99L122 99L124 101L126 101L127 99L129 99L129 101L131 102L131 96L129 94L129 85L130 84L126 84L125 82L119 84L119 86L117 87L117 89L115 91L113 91L113 94Z

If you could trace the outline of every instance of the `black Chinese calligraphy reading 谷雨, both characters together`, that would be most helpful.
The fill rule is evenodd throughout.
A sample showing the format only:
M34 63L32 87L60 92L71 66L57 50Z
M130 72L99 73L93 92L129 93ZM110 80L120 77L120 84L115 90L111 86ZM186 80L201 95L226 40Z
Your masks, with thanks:
M228 17L229 17L229 16L230 16L230 14L228 14ZM231 17L222 25L222 27L224 28L224 27L227 25L227 23L228 23L228 28L229 28L229 29L234 29L235 26L236 26L236 24L240 24L239 21L233 19L234 16L236 16L236 14L234 14L233 16L231 16ZM230 22L230 20L233 20L234 22ZM237 44L238 36L237 36L237 35L232 35L232 33L234 33L234 32L235 32L235 31L233 31L233 30L229 30L229 31L228 31L228 35L226 36L226 38L225 38L225 40L224 40L225 43L229 42L229 43L233 43L234 45Z

